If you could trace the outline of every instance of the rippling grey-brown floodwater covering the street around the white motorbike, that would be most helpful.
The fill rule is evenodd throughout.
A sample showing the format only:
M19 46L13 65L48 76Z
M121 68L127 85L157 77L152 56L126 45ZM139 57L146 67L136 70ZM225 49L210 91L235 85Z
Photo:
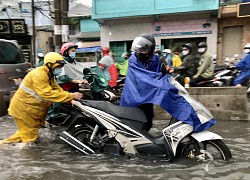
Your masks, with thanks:
M160 133L167 121L154 121L152 133ZM210 129L224 138L233 159L230 162L198 162L185 159L168 163L161 159L82 155L58 137L60 128L40 130L40 141L30 145L0 147L0 179L250 179L250 121L218 121ZM16 131L12 118L0 118L0 139Z

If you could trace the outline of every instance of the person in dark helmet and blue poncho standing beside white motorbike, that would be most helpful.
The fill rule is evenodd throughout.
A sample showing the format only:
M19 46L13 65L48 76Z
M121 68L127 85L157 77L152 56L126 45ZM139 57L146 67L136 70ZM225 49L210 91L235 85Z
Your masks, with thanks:
M152 35L142 34L134 39L120 106L140 107L147 116L144 127L147 131L152 127L153 104L160 105L175 119L192 125L195 132L214 125L213 118L202 123L193 107L170 84L170 75L161 73L162 63L154 55L154 49L155 39Z

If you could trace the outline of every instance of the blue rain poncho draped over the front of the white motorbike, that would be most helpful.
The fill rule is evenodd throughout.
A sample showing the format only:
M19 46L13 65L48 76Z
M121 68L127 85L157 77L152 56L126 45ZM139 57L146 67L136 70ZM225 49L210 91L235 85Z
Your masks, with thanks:
M132 55L120 105L137 107L146 103L157 104L174 118L192 125L194 132L213 126L213 118L201 123L193 107L178 94L179 90L169 83L169 75L162 76L160 66L161 62L157 56L153 56L145 66Z

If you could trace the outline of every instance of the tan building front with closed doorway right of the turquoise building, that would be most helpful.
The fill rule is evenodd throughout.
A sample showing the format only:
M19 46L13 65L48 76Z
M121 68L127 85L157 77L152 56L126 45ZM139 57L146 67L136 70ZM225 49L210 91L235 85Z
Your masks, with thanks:
M246 14L239 16L240 5L246 6ZM250 0L226 1L218 14L218 60L223 64L226 58L243 56L244 46L250 42Z

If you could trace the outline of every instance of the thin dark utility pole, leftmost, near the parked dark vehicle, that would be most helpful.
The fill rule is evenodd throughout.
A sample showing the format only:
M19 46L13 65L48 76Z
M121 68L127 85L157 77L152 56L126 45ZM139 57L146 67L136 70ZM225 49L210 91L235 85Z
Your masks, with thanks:
M31 66L35 65L36 62L36 24L35 24L35 6L34 0L31 1L31 9L32 9L32 30L33 30L33 38L32 38L32 49L33 53L31 56Z

